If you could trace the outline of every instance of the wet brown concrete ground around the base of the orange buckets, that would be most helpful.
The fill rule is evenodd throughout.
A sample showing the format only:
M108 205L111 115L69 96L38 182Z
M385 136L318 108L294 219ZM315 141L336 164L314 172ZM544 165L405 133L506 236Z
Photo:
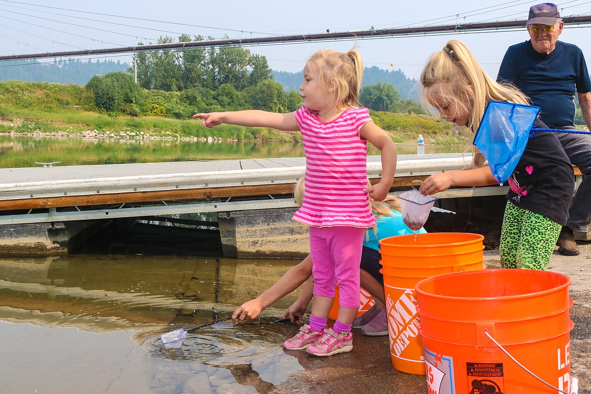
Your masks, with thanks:
M591 242L577 241L579 256L554 252L549 271L571 278L570 318L574 328L570 336L571 376L579 379L579 393L591 393ZM498 249L485 250L487 268L500 268ZM294 334L296 330L294 329ZM350 353L327 359L290 352L304 370L296 372L274 393L392 393L428 394L425 376L398 372L392 367L388 337L367 337L354 330ZM555 393L548 390L548 393ZM508 393L514 394L514 393Z

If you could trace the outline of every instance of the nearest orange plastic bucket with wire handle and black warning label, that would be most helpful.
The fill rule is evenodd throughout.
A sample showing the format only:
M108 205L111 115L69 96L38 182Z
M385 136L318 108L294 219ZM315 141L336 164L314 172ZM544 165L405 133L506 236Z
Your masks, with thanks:
M570 392L569 285L561 273L527 269L457 272L418 282L428 392L557 392L523 367Z

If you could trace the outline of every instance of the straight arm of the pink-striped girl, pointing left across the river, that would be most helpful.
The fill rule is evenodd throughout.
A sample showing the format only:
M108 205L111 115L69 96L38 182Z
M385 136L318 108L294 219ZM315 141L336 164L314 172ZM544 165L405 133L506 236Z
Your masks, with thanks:
M296 116L291 113L275 113L251 109L245 111L196 113L193 118L200 118L205 127L226 123L228 125L269 127L286 131L300 131Z

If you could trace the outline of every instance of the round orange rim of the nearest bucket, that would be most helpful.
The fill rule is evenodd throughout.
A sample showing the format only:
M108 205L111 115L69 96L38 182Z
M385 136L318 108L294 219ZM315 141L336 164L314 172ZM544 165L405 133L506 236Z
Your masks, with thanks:
M515 272L515 271L519 271L519 272L528 272L528 273L532 273L532 272L546 272L549 273L550 275L553 276L558 276L561 278L566 278L566 282L561 284L561 285L557 285L551 289L545 289L542 291L535 291L535 292L529 292L529 293L525 293L525 294L515 294L515 295L501 295L499 297L475 297L475 296L470 296L470 297L454 297L451 295L441 295L441 294L433 294L430 292L426 292L424 290L420 289L420 286L433 281L433 280L439 280L441 278L445 278L447 276L452 276L452 275L493 275L494 273L497 272ZM485 272L485 273L483 273ZM540 296L540 295L545 295L545 294L551 294L551 293L555 293L558 291L563 290L564 288L568 288L570 286L571 283L571 279L569 278L569 276L564 275L563 273L559 273L559 272L553 272L553 271L535 271L535 270L531 270L531 269L518 269L518 268L497 268L497 269L476 269L473 271L462 271L462 272L450 272L450 273L442 273L441 275L437 275L437 276L431 276L430 278L425 278L419 282L417 282L417 284L414 286L414 290L418 293L418 295L424 295L425 297L431 297L431 298L436 298L436 299L445 299L445 300L459 300L459 299L470 299L472 301L488 301L488 300L499 300L499 299L521 299L521 298L531 298L532 296Z

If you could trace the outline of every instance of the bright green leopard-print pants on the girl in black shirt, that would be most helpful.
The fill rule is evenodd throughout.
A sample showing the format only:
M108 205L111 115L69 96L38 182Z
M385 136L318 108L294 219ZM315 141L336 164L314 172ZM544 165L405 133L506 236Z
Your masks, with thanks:
M546 269L562 226L507 201L501 227L502 268Z

